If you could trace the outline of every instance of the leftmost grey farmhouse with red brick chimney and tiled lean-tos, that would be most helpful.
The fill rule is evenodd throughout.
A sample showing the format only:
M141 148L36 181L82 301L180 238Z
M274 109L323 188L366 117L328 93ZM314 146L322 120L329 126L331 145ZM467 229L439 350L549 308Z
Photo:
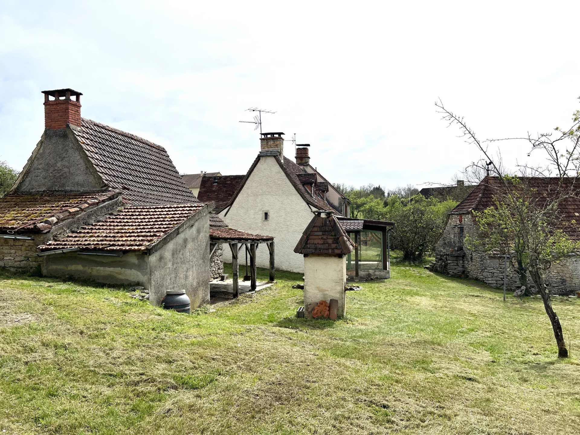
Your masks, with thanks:
M0 198L0 267L139 284L153 303L168 289L186 289L192 307L207 302L223 273L216 248L264 237L227 228L163 147L81 118L80 92L43 93L45 131Z

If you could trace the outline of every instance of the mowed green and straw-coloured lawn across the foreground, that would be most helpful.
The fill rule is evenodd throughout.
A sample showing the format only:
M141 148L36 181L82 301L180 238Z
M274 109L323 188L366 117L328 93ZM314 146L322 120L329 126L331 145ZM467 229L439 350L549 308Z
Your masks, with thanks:
M122 289L2 276L0 429L580 433L576 299L554 300L572 344L558 361L538 298L503 303L418 267L393 276L348 292L338 322L295 318L298 274L190 316Z

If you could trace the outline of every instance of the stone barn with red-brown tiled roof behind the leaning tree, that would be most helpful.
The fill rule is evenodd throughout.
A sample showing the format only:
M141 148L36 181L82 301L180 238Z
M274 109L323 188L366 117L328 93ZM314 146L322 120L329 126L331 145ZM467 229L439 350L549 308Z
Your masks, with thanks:
M530 186L538 195L549 194L557 186L557 178L528 178ZM474 212L481 212L494 206L494 190L500 186L498 177L487 176L474 187L447 216L443 234L439 238L435 262L430 269L449 276L463 276L485 282L491 287L503 287L504 256L494 253L474 251L464 244L466 235L475 237L477 223ZM565 201L560 206L563 222L578 220L580 199ZM572 240L580 240L580 231L575 225L563 226ZM580 291L580 257L570 256L559 263L552 263L546 270L546 284L554 294L568 294ZM516 268L507 260L506 285L510 290L521 288ZM528 285L533 290L531 278Z

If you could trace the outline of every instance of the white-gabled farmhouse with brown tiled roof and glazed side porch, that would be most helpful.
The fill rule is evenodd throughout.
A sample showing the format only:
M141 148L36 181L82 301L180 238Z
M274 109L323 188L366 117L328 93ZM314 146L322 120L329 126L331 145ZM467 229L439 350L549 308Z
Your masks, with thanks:
M348 273L389 277L388 230L394 224L350 219L349 200L310 165L309 145L296 146L296 161L284 156L284 133L261 133L260 151L244 176L204 177L200 198L215 201L218 215L229 226L254 234L276 237L276 266L304 272L302 256L294 248L313 212L326 211L338 218L353 241L364 231L379 234L378 253L371 262L362 261L360 250L349 253ZM230 261L224 252L224 260ZM267 267L268 252L258 252L258 266Z

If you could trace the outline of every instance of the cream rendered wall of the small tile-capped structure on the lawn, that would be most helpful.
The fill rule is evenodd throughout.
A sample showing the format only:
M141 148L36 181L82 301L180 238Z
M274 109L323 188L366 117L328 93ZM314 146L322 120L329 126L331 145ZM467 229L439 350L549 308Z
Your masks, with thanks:
M338 316L346 315L346 257L309 255L304 257L304 310L312 318L312 310L321 300L338 300Z

